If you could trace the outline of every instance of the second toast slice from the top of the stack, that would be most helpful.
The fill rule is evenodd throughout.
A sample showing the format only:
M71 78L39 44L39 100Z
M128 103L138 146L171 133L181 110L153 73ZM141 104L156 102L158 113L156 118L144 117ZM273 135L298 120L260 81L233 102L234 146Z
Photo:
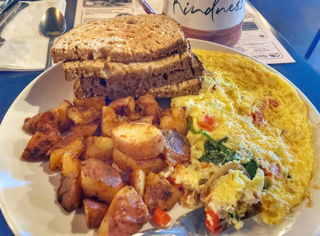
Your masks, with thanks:
M106 80L147 79L155 75L163 76L172 70L192 67L191 48L171 53L150 61L130 63L113 62L107 59L68 61L63 64L64 77L67 81L81 77L99 77Z

